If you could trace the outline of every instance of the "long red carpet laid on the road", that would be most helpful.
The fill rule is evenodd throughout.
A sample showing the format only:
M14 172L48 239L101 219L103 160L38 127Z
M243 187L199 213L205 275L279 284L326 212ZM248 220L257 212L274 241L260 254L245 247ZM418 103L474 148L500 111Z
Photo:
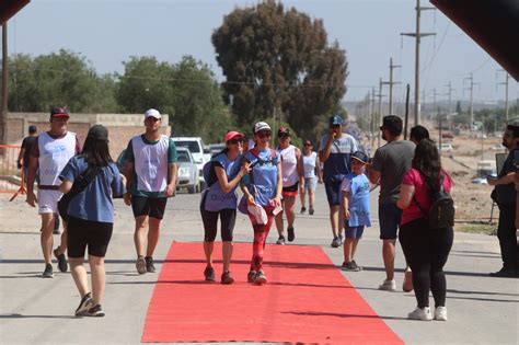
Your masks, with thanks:
M253 286L246 283L252 244L235 244L231 263L235 283L224 286L219 284L218 244L218 283L203 279L201 243L172 244L142 342L402 344L321 248L267 245L268 284Z

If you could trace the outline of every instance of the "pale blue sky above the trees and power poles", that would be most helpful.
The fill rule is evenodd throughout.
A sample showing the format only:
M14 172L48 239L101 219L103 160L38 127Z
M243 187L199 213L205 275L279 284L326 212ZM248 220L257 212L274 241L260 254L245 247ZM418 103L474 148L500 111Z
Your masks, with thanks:
M208 64L218 79L221 71L215 59L210 36L223 16L235 7L255 1L230 0L32 0L9 21L10 54L32 56L60 48L80 53L99 73L122 72L122 61L130 56L155 56L176 62L184 55ZM415 30L415 0L291 0L311 18L322 19L328 42L337 41L349 61L348 91L345 101L362 99L379 78L389 80L389 60L393 57L394 90L403 100L405 83L414 85L414 39L401 37ZM422 5L430 5L423 0ZM446 84L451 81L454 100L468 100L470 72L474 82L474 100L504 100L505 79L500 67L439 10L422 15L423 32L436 32L436 38L423 38L422 87L426 102L445 100ZM510 99L519 88L510 79ZM384 91L384 93L388 93Z

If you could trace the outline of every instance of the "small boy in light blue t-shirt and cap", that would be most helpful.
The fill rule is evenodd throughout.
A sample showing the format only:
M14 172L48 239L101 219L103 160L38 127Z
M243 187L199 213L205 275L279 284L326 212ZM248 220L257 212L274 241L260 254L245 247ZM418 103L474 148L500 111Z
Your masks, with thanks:
M357 244L362 238L365 227L371 227L369 212L369 180L364 173L364 166L369 158L362 151L351 154L351 172L341 184L342 208L346 241L344 242L344 271L358 272L361 267L355 262Z

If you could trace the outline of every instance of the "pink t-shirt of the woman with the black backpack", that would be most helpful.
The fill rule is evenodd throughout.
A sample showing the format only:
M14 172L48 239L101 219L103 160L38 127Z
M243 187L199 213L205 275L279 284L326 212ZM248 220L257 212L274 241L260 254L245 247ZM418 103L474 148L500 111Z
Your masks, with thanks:
M450 193L450 189L452 188L452 180L446 172L443 172L443 192ZM405 174L402 184L415 187L414 198L416 198L424 212L428 212L430 208L429 188L425 182L424 175L422 175L416 169L411 169ZM403 210L401 223L405 225L415 219L423 218L424 216L425 215L420 211L416 202L413 199L410 207Z

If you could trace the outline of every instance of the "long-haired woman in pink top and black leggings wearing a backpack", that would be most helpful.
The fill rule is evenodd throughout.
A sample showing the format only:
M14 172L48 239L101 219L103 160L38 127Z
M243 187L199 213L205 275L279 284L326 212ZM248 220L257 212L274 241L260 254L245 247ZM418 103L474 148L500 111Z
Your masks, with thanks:
M452 227L431 228L429 209L432 195L450 194L452 180L441 168L438 149L434 141L423 139L415 149L412 169L405 174L397 200L403 209L400 243L407 263L413 269L416 309L408 313L412 320L447 321L446 276L447 263L453 242ZM429 290L435 299L434 314L429 308Z

